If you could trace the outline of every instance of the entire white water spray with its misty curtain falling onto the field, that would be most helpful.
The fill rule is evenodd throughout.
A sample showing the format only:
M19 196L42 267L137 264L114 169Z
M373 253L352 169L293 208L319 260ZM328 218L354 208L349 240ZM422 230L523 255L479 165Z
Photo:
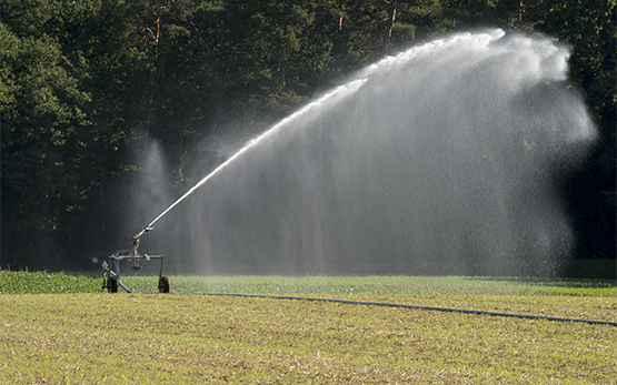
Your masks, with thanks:
M147 226L165 217L158 246L209 271L558 274L575 242L558 185L596 139L568 57L501 30L411 48L248 142Z

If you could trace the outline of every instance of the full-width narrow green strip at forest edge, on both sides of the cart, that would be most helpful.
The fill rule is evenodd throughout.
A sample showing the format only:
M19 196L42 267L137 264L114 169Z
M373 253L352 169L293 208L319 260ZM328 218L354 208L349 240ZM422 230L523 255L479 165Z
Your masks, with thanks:
M617 296L617 282L586 278L467 276L282 276L172 275L171 293L242 294L425 294L425 295L567 295ZM136 293L158 291L158 276L122 276ZM0 294L101 293L102 275L0 270Z

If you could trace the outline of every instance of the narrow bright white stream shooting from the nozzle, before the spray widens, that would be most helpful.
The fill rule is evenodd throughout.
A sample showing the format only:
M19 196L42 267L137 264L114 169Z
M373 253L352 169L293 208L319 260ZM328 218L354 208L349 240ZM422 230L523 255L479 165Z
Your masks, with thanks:
M211 173L209 173L208 175L206 175L206 178L203 178L201 181L199 181L195 186L192 186L189 191L187 191L182 196L180 196L176 202L173 202L169 207L167 207L162 213L159 214L159 216L157 216L156 219L153 219L148 225L146 225L143 229L147 227L152 227L152 225L160 220L165 214L167 214L171 209L176 207L180 202L182 202L187 196L189 196L190 194L192 194L197 189L199 189L200 186L202 186L203 184L206 184L206 182L208 182L209 180L211 180L216 174L218 174L219 172L221 172L221 170L223 170L227 165L229 165L231 162L233 162L235 160L237 160L238 158L242 156L242 154L245 154L247 151L251 150L252 148L255 148L256 145L258 145L261 141L263 141L266 138L272 135L275 132L277 132L278 130L280 130L281 128L283 128L285 125L291 123L292 121L301 118L302 115L307 114L308 112L319 108L320 105L322 105L326 102L331 102L332 99L339 99L339 98L345 98L347 95L350 95L352 93L355 93L368 79L364 78L364 79L358 79L358 80L354 80L347 84L340 85L336 89L334 89L332 91L328 92L327 94L325 94L324 97L321 97L320 99L316 100L312 103L307 104L305 108L300 109L299 111L297 111L296 113L291 114L290 116L281 120L279 123L275 124L272 128L270 128L268 131L263 132L261 135L257 136L256 139L249 141L243 148L241 148L238 152L236 152L231 158L229 158L227 161L225 161L223 163L221 163L218 168L216 168Z

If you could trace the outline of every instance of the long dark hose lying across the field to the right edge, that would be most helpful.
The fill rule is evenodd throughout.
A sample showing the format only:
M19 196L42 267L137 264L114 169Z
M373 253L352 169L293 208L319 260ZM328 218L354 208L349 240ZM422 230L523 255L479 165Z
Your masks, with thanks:
M617 326L617 322L610 322L610 321L595 321L595 320L579 320L579 318L561 318L561 317L549 317L549 316L545 316L545 315L510 314L510 313L499 313L499 312L472 311L472 310L465 310L465 308L450 308L450 307L436 307L436 306L402 305L402 304L392 304L392 303L386 303L386 302L364 302L364 301L332 300L332 298L311 298L311 297L281 296L281 295L262 295L262 294L206 294L206 295L225 295L225 296L241 296L241 297L255 297L255 298L276 298L276 300L297 300L297 301L337 302L337 303L354 304L354 305L375 305L375 306L390 306L390 307L404 307L404 308L419 308L419 310L438 311L438 312L454 312L454 313L467 313L467 314L482 314L482 315L494 315L494 316L501 316L501 317L516 317L516 318L530 318L530 320L546 320L546 321L560 321L560 322L583 322L583 323L586 323L586 324Z

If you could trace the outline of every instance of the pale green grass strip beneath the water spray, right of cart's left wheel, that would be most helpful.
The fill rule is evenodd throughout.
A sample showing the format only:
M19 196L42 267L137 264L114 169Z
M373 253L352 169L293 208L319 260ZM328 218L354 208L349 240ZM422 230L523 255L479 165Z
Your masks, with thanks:
M157 290L157 278L125 276L137 292ZM499 294L615 296L617 284L603 280L485 278L466 276L170 276L171 291L271 294Z

